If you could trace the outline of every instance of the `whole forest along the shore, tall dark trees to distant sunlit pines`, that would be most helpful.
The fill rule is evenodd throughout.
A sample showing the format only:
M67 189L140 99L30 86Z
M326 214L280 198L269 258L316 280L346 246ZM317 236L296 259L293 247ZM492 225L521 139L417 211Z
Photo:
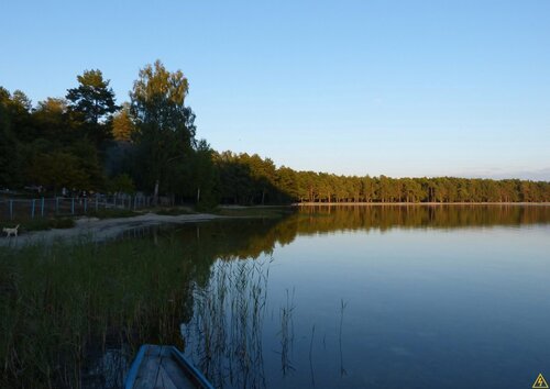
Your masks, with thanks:
M218 153L197 137L180 70L140 70L118 105L110 80L85 70L64 98L34 104L0 87L0 189L172 197L201 207L288 202L548 202L550 182L338 176ZM45 194L44 194L45 193Z

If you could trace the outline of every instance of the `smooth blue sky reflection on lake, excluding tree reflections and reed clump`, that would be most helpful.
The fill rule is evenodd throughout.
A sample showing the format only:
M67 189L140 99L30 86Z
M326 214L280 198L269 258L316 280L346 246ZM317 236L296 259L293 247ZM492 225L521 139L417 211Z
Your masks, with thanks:
M539 373L550 375L549 237L540 220L298 229L290 244L255 259L273 258L258 386L529 387ZM288 294L292 368L283 371Z

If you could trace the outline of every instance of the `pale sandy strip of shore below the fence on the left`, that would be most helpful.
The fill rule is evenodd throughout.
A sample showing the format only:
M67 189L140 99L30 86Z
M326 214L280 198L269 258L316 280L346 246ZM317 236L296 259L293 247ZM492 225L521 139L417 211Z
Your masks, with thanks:
M116 237L136 227L161 225L161 224L183 224L191 222L207 222L215 219L227 219L209 213L180 214L176 216L146 213L132 218L97 219L81 218L76 220L72 229L33 231L18 237L0 237L0 246L21 246L25 244L52 243L56 240L75 240L88 237L92 241L102 241Z

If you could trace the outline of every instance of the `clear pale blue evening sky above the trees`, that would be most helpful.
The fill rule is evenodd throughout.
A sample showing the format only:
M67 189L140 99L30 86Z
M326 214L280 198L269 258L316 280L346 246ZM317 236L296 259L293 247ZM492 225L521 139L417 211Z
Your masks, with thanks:
M336 174L550 180L550 1L3 1L0 86L36 103L161 59L199 137Z

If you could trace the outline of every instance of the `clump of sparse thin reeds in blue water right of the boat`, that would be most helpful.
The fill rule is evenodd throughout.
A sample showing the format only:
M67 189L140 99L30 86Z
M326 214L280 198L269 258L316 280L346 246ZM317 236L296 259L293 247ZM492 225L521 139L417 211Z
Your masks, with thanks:
M219 260L194 292L186 351L216 387L265 387L262 330L271 260Z

